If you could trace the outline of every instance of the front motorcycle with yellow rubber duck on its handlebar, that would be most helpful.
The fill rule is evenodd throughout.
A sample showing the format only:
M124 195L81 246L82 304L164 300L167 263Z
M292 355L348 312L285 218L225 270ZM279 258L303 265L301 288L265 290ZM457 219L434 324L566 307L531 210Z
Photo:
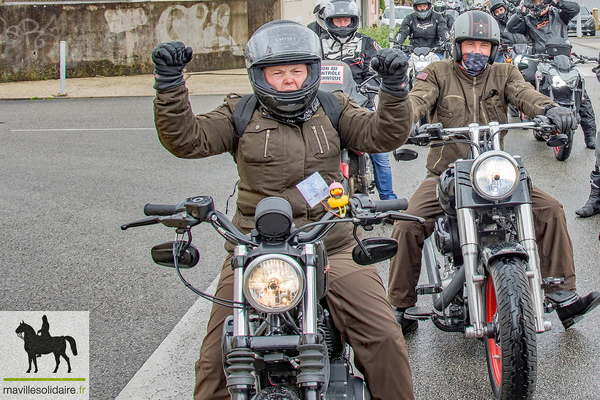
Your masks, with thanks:
M242 234L226 215L215 210L208 196L188 198L177 205L144 207L148 218L121 229L161 223L176 231L176 240L152 248L159 265L175 267L183 283L203 298L231 307L223 328L223 360L233 400L369 400L362 378L353 375L349 346L337 331L325 301L328 261L323 238L333 225L351 223L357 246L353 259L360 265L391 258L398 244L389 238L360 240L366 230L386 218L413 219L399 212L406 199L348 198L335 188L327 200L331 212L319 222L296 228L290 204L268 197L256 207L256 229ZM193 227L211 224L235 245L233 301L194 288L181 269L198 263L191 243Z

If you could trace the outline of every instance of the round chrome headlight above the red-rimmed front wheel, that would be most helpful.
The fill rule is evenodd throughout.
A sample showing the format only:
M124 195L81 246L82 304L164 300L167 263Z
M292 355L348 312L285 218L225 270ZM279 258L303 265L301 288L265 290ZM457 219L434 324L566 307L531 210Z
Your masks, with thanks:
M471 182L475 191L489 200L513 194L519 183L519 166L501 151L489 151L473 163Z

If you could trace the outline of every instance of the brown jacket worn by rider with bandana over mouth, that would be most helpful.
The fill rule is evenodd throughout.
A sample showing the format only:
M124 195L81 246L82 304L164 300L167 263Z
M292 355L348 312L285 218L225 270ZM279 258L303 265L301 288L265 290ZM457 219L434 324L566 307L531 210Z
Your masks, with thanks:
M410 91L413 120L418 121L429 111L431 123L445 128L458 128L477 122L507 123L508 104L529 117L544 114L552 100L527 83L511 64L489 65L479 76L465 74L458 63L442 60L428 65L416 79ZM466 143L434 147L427 155L430 175L440 175L459 158L467 158Z

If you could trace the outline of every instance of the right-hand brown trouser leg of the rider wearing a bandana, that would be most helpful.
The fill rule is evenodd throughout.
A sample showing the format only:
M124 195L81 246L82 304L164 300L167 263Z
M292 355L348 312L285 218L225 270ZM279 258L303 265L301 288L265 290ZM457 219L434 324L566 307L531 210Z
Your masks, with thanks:
M559 289L575 290L573 243L562 204L535 186L531 202L542 277L565 278L564 284L550 287L546 293Z

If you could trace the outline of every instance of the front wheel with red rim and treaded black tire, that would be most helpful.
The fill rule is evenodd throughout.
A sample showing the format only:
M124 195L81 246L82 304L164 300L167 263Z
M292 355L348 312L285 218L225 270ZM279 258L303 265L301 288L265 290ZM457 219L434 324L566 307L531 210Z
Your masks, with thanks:
M488 373L496 399L531 399L537 377L537 344L525 263L499 257L485 285L486 321L496 335L484 340Z

